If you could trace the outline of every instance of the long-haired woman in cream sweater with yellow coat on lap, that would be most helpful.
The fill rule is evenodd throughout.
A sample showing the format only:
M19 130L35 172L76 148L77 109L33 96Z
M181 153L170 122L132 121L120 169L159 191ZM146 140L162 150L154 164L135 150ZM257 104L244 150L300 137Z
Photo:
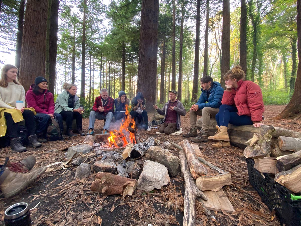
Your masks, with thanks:
M29 145L39 147L36 136L36 126L34 120L34 109L25 109L25 91L17 79L18 68L11 64L6 64L1 70L0 79L0 137L7 133L10 139L10 146L14 152L26 151L23 147L21 137L18 134L18 125L24 122L28 130ZM23 102L23 107L17 109L16 102Z

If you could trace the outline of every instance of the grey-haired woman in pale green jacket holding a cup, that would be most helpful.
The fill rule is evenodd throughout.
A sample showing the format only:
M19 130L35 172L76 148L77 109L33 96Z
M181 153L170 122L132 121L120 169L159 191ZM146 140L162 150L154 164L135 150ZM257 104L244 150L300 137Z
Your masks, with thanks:
M69 137L75 137L76 134L72 131L73 118L76 118L76 129L80 136L85 136L82 132L82 112L84 110L79 109L79 98L76 96L76 85L65 82L63 84L63 93L58 95L54 105L54 113L61 114L63 120L67 124L67 135Z

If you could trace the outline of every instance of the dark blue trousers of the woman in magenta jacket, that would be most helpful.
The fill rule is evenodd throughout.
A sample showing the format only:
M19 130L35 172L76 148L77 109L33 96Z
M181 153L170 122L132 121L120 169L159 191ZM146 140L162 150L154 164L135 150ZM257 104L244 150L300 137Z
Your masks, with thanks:
M54 113L53 114L55 118L58 121L58 124L60 125L60 128L62 131L64 131L64 126L63 126L63 117L61 114ZM35 121L36 121L36 133L46 133L47 127L49 125L50 121L50 116L45 113L37 113L35 116Z

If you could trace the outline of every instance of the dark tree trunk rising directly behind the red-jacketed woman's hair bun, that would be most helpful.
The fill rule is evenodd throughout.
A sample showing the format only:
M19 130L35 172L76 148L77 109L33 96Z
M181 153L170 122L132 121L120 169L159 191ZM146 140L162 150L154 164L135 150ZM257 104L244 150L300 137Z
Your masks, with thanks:
M239 64L247 76L247 6L246 0L240 1L240 49Z

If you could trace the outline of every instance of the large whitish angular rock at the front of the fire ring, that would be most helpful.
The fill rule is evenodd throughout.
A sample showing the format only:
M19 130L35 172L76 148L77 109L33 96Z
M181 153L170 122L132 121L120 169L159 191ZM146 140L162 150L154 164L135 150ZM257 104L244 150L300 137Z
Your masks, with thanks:
M137 189L151 191L154 188L161 187L169 182L167 168L160 163L146 161L143 171L138 179Z

